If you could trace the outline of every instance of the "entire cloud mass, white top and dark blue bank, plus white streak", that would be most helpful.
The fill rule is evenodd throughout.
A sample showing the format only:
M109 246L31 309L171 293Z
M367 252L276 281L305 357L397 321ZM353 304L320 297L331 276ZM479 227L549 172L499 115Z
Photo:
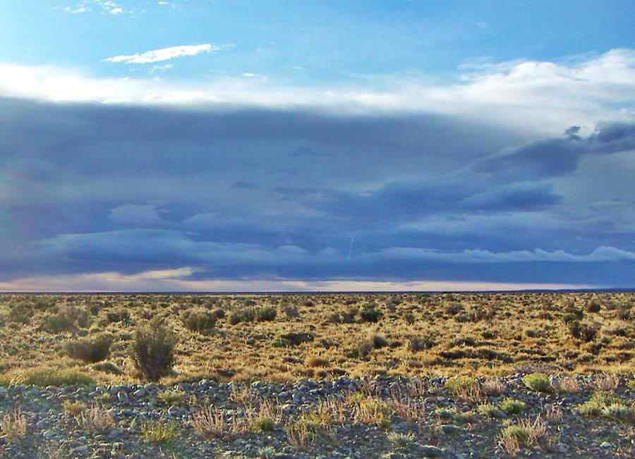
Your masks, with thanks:
M632 286L634 56L385 91L0 66L0 289Z

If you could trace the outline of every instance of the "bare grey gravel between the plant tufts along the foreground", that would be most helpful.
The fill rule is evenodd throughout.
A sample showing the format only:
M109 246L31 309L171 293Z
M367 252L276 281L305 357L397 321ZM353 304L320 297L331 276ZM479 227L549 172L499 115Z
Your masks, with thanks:
M460 400L444 389L444 377L425 378L428 392L412 396L425 408L417 423L393 415L389 426L344 422L334 425L330 436L320 436L306 449L291 446L284 423L294 420L326 398L343 399L351 391L375 393L379 398L403 391L413 379L375 377L374 379L303 379L294 384L254 381L248 386L251 400L269 399L282 410L284 420L270 432L252 432L223 439L203 439L192 426L192 415L210 406L228 419L245 415L244 401L237 402L236 383L217 383L203 379L176 386L128 384L97 387L0 386L0 419L19 407L28 421L28 432L20 439L0 435L1 458L425 458L448 459L505 458L499 441L500 430L521 418L533 420L540 413L547 423L548 441L521 451L531 458L632 458L635 433L632 424L604 418L582 417L576 406L588 400L594 375L578 375L584 388L579 393L537 393L522 382L523 374L502 378L507 390L499 396L478 402ZM555 375L552 379L557 382ZM623 383L624 381L622 381ZM164 404L162 391L182 391L183 400ZM402 392L403 393L403 392ZM615 391L631 405L635 391L620 384ZM526 403L520 415L500 410L493 417L476 412L478 403L500 403L511 397ZM111 413L115 427L95 432L78 425L73 415L64 412L65 400L91 406L99 403ZM448 411L449 410L449 411ZM557 412L548 416L547 412ZM453 414L454 413L454 414ZM461 415L461 416L459 416ZM148 420L174 422L176 438L167 443L152 443L141 435L140 426ZM401 434L404 444L389 433Z

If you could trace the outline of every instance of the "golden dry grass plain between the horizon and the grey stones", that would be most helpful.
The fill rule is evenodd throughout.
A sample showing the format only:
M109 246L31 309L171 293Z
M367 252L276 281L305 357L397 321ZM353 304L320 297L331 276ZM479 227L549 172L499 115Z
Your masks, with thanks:
M588 312L593 302L603 307ZM164 384L378 373L497 377L526 369L626 374L635 370L635 323L623 310L604 306L633 302L633 293L7 294L0 301L0 384L74 384L82 381L79 374L90 377L85 384L136 382L130 358L135 330L157 318L179 336L175 371L150 375ZM213 314L209 333L183 322L189 310ZM583 325L595 335L582 333ZM86 365L67 355L65 343L104 333L112 338L111 365ZM282 338L293 333L303 339ZM379 338L371 342L369 336ZM488 396L504 389L487 381L480 391ZM472 388L456 395L478 398Z

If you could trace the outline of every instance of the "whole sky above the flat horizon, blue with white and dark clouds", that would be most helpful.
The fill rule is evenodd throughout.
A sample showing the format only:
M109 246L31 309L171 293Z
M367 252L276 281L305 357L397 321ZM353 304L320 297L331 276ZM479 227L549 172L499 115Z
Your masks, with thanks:
M0 290L635 286L635 3L0 4Z

